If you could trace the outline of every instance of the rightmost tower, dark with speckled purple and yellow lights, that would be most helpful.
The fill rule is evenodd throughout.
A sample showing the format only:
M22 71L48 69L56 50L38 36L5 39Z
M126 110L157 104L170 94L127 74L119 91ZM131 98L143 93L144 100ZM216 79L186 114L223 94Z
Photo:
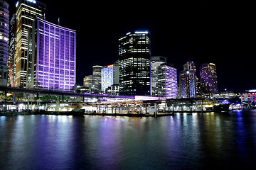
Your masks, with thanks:
M210 96L218 92L215 64L206 63L200 66L200 81L202 94Z

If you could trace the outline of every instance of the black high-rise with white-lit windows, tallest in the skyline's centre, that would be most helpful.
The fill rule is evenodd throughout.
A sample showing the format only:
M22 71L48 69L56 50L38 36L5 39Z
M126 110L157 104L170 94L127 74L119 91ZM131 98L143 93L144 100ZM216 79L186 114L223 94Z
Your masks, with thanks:
M150 95L150 40L147 31L119 38L119 94Z

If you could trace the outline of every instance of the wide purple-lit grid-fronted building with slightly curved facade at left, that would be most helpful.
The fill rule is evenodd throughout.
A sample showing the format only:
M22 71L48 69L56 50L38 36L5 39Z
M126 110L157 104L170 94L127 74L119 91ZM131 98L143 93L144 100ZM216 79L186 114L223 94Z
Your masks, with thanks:
M74 91L75 30L37 18L30 31L28 88Z

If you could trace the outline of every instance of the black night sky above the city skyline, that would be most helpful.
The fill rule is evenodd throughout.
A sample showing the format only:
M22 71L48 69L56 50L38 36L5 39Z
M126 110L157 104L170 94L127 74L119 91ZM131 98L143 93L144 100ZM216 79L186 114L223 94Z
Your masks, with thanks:
M16 1L11 1L12 13ZM195 62L197 70L201 64L213 62L219 91L256 89L255 19L242 6L208 1L41 2L46 4L47 21L57 23L60 17L60 26L77 31L78 85L92 74L93 65L105 66L118 59L119 37L131 30L147 30L151 56L167 57L178 72L188 61Z

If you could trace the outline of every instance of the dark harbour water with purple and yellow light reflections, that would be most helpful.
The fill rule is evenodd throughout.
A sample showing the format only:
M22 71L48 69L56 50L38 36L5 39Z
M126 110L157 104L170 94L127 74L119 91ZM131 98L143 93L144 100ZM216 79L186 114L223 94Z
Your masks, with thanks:
M255 169L256 110L0 116L0 169Z

